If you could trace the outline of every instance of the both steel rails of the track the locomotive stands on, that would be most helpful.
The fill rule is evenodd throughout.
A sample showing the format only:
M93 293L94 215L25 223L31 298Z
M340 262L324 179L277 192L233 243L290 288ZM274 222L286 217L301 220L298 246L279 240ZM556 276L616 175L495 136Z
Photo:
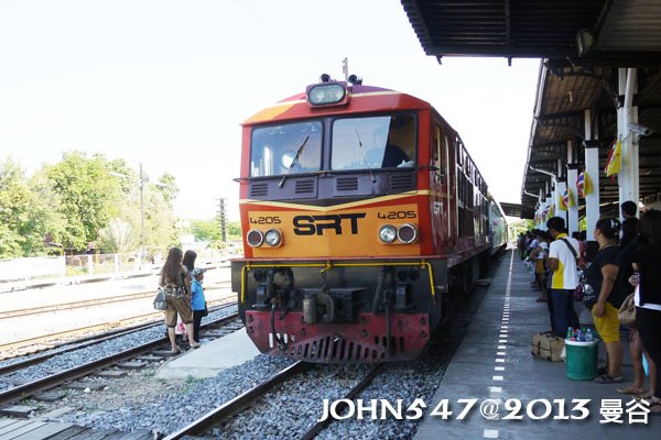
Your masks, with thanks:
M254 404L258 399L262 398L271 389L283 385L286 381L296 377L314 367L315 364L306 363L306 362L295 362L288 367L281 370L267 381L261 382L260 384L253 386L247 392L240 394L239 396L232 398L231 400L226 402L220 405L218 408L205 414L197 420L192 424L181 428L180 430L170 433L163 440L178 440L178 439L192 439L195 436L205 436L208 437L208 431L215 427L227 422L231 417L239 414L250 405ZM382 364L378 364L372 367L360 382L358 382L345 396L345 399L353 400L365 389L375 377L378 376L379 372L382 369ZM338 406L338 413L342 411ZM317 421L313 424L310 429L301 437L302 440L311 440L314 439L324 428L326 428L333 420L330 418L324 421Z

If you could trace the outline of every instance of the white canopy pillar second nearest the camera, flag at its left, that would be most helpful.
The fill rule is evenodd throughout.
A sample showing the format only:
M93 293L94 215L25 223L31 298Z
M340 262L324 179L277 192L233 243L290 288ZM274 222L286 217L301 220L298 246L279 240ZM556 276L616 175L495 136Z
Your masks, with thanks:
M599 220L599 138L598 127L593 127L592 111L585 110L585 173L592 182L592 193L585 196L585 228L588 243L596 244L592 232ZM596 244L598 248L598 244Z

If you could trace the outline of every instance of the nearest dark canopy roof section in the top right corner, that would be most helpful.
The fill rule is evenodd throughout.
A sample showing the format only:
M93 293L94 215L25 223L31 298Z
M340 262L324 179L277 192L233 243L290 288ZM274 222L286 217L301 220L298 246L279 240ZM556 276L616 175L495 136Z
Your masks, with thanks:
M661 66L661 4L650 0L402 0L427 55Z

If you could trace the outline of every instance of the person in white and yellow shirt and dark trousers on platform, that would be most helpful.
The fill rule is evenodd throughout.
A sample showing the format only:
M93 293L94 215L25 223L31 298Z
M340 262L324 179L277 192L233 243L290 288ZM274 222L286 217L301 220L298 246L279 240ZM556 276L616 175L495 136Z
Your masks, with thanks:
M578 327L578 317L574 311L574 290L578 285L576 261L578 242L567 235L562 217L552 217L546 221L549 234L554 240L549 245L549 270L552 272L549 310L551 327L555 336L564 338L568 327Z

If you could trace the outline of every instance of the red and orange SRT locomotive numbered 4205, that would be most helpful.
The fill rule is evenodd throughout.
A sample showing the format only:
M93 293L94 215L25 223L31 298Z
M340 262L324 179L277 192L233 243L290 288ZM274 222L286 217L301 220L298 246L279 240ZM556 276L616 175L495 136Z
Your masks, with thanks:
M458 134L425 101L332 81L243 123L232 287L262 352L415 358L506 240Z

